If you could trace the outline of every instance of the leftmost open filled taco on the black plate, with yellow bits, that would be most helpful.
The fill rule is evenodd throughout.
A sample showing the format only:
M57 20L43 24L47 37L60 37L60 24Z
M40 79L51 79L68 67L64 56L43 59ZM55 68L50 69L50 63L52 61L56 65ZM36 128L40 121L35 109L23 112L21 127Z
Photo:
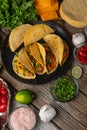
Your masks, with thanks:
M32 63L25 52L21 49L13 58L12 66L14 72L21 78L34 79L36 77Z

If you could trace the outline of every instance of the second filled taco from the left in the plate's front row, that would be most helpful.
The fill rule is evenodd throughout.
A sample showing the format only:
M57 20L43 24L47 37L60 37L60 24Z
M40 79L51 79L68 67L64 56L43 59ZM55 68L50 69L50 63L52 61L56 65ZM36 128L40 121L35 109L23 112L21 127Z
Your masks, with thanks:
M26 52L33 63L36 74L42 75L46 73L45 50L40 43L33 43L26 47Z

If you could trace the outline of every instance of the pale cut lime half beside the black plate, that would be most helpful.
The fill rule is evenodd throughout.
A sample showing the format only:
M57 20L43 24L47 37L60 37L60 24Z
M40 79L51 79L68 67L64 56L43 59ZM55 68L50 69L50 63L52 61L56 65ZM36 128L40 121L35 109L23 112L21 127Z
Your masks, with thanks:
M72 76L75 78L75 79L79 79L82 75L82 68L80 66L74 66L72 68Z

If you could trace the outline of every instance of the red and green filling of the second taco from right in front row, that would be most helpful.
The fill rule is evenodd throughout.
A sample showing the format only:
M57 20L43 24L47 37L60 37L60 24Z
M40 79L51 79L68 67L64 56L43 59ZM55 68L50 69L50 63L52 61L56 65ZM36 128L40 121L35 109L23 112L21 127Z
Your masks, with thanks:
M49 72L53 71L57 66L56 57L55 57L53 51L51 50L51 48L47 44L43 44L43 46L46 51L46 67L47 67L47 71L49 73Z

